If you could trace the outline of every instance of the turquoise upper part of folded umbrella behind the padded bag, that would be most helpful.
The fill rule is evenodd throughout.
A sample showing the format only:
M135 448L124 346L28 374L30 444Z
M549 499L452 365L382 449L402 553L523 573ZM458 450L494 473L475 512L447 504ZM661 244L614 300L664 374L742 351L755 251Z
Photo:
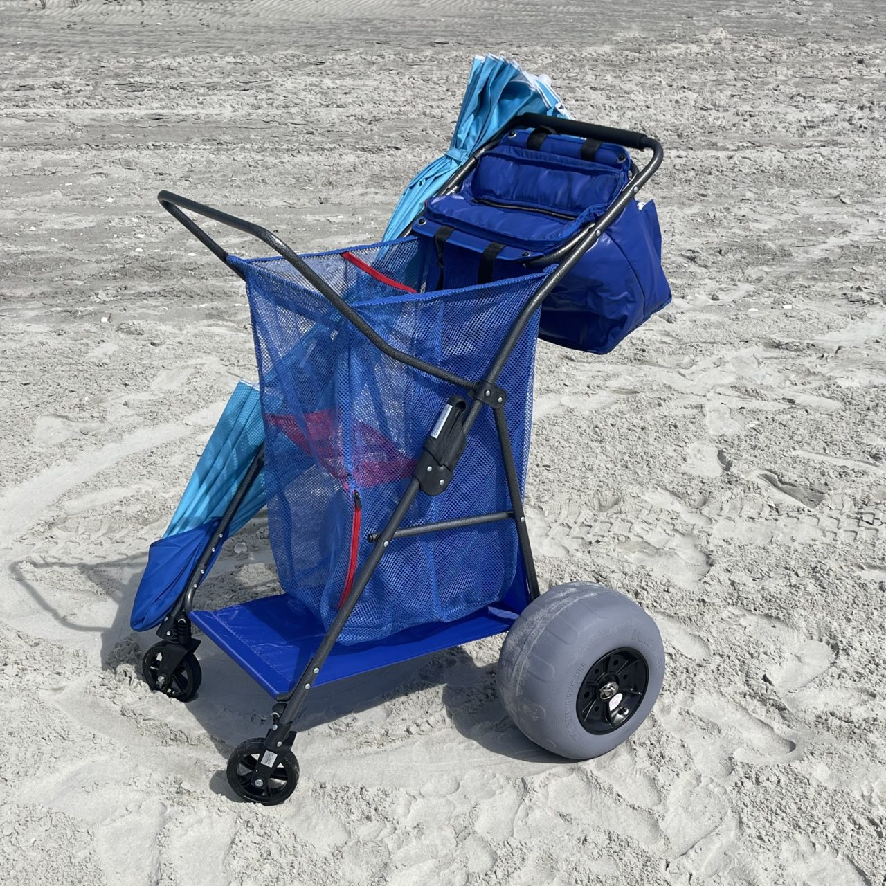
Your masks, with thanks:
M528 74L516 62L501 56L474 58L462 110L447 152L408 183L383 239L399 237L421 212L424 201L437 193L470 154L521 113L569 116L554 90L541 77Z

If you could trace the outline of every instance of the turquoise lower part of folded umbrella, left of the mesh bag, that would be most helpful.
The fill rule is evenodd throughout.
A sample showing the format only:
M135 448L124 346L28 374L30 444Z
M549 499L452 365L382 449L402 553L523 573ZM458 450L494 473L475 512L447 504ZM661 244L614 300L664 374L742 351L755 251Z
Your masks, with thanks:
M258 388L237 382L163 537L221 517L264 439ZM265 506L265 501L264 478L260 473L234 515L230 534L242 529Z

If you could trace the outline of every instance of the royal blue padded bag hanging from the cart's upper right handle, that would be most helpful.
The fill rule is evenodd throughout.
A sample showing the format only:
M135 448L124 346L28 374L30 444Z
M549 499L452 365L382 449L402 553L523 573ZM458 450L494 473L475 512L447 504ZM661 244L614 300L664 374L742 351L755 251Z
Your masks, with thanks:
M630 159L617 144L601 144L594 159L585 159L580 138L549 135L536 147L527 146L530 136L506 136L457 192L427 202L416 234L454 229L441 247L441 285L528 273L525 260L550 253L599 218L629 180ZM491 271L483 258L490 243L504 247ZM656 207L632 200L545 299L539 337L607 354L670 300Z

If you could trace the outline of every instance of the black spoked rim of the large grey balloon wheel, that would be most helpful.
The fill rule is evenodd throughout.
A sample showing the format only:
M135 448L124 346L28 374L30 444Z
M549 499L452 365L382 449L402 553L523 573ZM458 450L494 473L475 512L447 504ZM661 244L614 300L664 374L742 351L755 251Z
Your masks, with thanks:
M649 686L649 667L636 649L613 649L591 665L581 681L575 710L587 732L620 729L640 708Z

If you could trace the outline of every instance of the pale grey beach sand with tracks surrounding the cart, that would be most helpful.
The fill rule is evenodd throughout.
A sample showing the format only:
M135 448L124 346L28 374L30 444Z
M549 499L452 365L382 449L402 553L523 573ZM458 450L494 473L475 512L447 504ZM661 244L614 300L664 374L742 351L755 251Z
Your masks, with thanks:
M882 884L884 37L859 0L0 2L0 881ZM667 149L672 307L540 344L527 493L543 587L641 602L664 692L564 763L478 642L317 690L295 796L237 803L267 696L208 641L193 703L152 695L128 628L255 377L237 279L154 195L372 241L486 50ZM243 540L206 605L276 587Z

